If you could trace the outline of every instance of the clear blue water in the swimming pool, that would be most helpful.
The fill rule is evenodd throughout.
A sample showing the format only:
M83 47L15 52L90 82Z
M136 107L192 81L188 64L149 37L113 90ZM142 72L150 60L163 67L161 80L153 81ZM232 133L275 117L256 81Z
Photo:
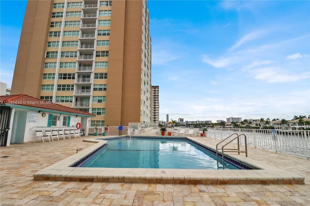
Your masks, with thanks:
M219 158L221 159L221 158ZM222 169L214 154L186 139L117 138L79 167ZM239 169L226 163L225 169Z

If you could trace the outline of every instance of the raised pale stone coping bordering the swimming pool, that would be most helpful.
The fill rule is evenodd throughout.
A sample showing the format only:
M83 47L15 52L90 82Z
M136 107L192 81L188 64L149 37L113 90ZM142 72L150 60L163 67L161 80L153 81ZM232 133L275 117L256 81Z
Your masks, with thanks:
M154 136L162 138L162 136ZM111 137L113 138L113 137ZM129 137L128 137L129 138ZM168 138L165 136L164 138ZM175 138L175 137L174 137ZM182 138L182 137L181 137ZM202 138L187 137L208 147L210 142ZM107 141L98 139L84 140L95 143L69 158L36 172L34 180L45 181L91 181L91 182L124 182L124 183L170 183L170 184L304 184L304 177L284 171L273 165L245 157L244 153L226 155L238 162L247 164L254 170L210 170L210 169L149 169L149 168L89 168L70 167L94 150L102 147ZM235 145L235 144L234 144ZM242 146L241 146L242 147ZM215 148L213 148L215 150ZM244 149L243 149L244 150Z

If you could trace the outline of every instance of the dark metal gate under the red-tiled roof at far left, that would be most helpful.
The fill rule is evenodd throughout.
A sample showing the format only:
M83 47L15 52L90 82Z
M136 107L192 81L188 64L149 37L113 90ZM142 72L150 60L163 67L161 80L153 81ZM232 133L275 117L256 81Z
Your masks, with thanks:
M6 142L8 140L8 132L10 127L10 119L11 119L11 111L10 107L1 106L0 107L0 146L6 146Z

